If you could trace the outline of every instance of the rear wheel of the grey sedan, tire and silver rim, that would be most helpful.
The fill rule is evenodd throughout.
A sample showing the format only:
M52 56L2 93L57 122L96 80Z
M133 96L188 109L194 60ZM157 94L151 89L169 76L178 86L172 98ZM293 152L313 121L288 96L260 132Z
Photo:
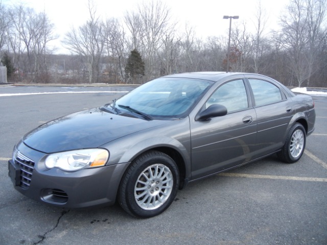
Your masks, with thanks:
M306 130L299 123L293 125L288 133L285 144L277 156L286 163L297 162L306 148Z

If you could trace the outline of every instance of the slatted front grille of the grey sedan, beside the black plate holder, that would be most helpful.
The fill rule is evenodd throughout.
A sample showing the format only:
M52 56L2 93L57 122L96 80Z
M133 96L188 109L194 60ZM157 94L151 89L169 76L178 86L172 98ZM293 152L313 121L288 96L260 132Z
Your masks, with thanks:
M20 167L20 187L28 189L32 181L34 162L20 152L15 156L15 163Z

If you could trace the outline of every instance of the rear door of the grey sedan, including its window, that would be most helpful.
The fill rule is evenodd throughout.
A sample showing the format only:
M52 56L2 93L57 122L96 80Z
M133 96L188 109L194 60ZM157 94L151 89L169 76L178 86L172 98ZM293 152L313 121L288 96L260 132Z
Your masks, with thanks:
M294 111L291 100L287 100L278 84L258 78L249 78L248 81L258 120L255 157L261 157L283 146Z

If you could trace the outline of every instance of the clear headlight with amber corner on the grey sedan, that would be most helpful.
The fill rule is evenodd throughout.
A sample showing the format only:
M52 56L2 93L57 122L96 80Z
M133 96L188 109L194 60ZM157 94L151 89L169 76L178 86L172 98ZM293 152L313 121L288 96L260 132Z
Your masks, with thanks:
M109 152L104 149L85 149L50 154L45 159L48 168L58 167L65 171L76 171L84 167L104 166Z

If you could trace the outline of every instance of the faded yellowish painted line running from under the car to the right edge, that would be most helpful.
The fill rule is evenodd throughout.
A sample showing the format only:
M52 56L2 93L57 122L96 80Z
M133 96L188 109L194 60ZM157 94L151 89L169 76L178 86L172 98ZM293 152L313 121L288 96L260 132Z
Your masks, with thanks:
M299 181L327 182L327 178L308 178L308 177L276 176L276 175L249 175L249 174L220 173L217 174L217 176L272 179L272 180L299 180Z

